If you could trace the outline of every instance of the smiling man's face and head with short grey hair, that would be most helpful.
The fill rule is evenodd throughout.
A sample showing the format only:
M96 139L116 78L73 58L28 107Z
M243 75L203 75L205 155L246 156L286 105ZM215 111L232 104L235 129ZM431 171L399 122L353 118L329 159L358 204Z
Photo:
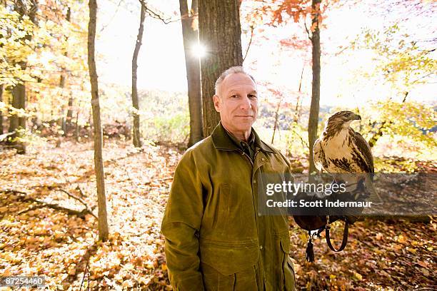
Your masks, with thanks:
M251 131L258 114L256 84L244 73L226 76L214 96L214 107L223 126L231 133Z

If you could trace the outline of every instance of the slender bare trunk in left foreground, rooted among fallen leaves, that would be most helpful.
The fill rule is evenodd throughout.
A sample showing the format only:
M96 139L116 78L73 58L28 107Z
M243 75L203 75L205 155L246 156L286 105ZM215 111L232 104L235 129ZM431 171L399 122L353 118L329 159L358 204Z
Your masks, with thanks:
M88 24L88 66L91 81L91 106L94 123L94 169L97 182L97 203L99 205L99 239L108 240L109 227L106 215L106 195L103 158L101 155L103 133L101 131L99 82L97 79L96 60L94 59L94 41L96 39L97 1L89 0Z

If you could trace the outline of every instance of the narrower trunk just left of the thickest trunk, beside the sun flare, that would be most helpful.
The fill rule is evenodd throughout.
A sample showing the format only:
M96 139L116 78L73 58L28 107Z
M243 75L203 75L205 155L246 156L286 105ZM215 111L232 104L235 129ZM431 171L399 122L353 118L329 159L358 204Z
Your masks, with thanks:
M197 14L197 0L191 2L191 11L188 11L187 0L179 0L181 10L182 35L184 37L184 52L186 79L188 83L189 110L190 110L190 138L188 146L193 146L203 138L202 121L202 92L199 56L192 50L194 44L199 44L199 32L196 31L194 20Z

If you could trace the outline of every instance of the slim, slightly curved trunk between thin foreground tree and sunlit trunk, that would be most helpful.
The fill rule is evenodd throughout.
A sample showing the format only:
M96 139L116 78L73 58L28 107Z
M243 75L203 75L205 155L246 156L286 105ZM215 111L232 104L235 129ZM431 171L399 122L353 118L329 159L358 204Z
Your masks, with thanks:
M134 106L134 146L141 148L141 134L140 134L140 119L139 119L139 102L138 102L138 89L136 88L136 78L138 71L138 54L141 48L141 41L144 33L144 19L146 18L146 4L140 1L141 13L140 13L140 25L138 29L138 36L136 36L136 44L134 49L134 56L132 57L132 106Z

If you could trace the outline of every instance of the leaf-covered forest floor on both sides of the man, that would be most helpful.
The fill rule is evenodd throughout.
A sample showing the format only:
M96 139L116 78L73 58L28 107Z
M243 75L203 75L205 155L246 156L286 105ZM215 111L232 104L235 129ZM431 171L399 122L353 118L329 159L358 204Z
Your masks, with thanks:
M171 290L159 229L181 153L105 140L110 235L99 242L92 143L0 150L0 276L45 276L50 290ZM342 252L316 240L308 263L306 232L291 220L298 290L436 290L436 230L365 219Z

